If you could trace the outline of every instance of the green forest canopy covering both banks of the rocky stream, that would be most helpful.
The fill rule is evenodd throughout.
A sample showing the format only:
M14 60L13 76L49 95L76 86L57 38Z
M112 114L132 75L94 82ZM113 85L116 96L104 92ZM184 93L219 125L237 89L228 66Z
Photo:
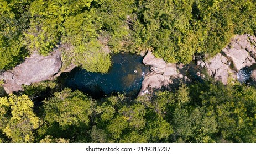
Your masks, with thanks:
M0 0L0 70L56 48L62 66L90 72L106 73L118 52L186 64L255 32L255 0ZM256 142L254 86L206 78L135 99L65 89L33 102L56 86L1 97L0 142Z

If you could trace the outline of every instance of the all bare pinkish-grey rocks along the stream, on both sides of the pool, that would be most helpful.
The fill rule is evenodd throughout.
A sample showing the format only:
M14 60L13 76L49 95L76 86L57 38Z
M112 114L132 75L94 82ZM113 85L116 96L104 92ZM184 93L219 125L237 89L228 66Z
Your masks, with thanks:
M206 68L207 73L216 80L228 83L228 78L237 79L237 73L244 67L250 67L256 63L256 37L249 34L235 36L229 45L223 48L221 53L208 58L207 55L195 56L195 64L198 70ZM145 65L150 66L150 73L145 75L140 95L147 94L150 89L160 89L162 86L173 84L173 79L190 81L189 77L182 73L183 64L166 63L161 58L156 58L148 51L143 59ZM53 80L62 72L70 72L76 67L71 65L66 70L61 70L61 52L55 50L49 56L32 54L25 62L0 75L4 80L4 90L7 94L13 91L22 91L22 85L30 85L45 80ZM186 70L187 71L187 70ZM200 71L195 73L203 78ZM256 70L252 71L250 82L256 82Z

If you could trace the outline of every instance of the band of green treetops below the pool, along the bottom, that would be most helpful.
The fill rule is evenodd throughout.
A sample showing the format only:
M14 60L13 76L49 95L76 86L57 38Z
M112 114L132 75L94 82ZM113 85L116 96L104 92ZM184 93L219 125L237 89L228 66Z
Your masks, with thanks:
M0 99L2 142L256 142L256 89L180 85L135 100L65 89L33 112L27 95ZM37 115L37 116L36 116Z

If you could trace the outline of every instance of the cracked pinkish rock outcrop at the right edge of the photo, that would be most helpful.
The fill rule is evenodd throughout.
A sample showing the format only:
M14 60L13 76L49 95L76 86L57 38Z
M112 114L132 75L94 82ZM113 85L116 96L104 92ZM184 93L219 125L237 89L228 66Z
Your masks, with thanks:
M228 78L237 79L237 72L243 67L250 67L256 59L256 37L248 34L235 36L229 45L215 57L205 62L197 62L205 66L213 78L227 84Z

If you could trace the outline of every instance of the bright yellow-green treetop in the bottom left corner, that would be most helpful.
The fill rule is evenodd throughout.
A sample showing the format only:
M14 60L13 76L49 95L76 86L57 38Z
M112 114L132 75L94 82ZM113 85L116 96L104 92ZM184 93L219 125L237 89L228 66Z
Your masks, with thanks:
M12 142L33 142L33 130L39 118L33 113L33 102L27 95L0 98L1 128ZM8 120L7 120L8 119Z

